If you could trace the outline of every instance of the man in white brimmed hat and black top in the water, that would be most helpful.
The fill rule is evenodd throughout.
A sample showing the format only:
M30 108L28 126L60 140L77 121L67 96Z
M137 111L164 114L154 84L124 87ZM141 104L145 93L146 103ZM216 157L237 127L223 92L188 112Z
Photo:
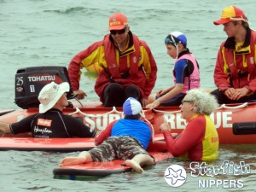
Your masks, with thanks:
M79 119L62 113L67 107L67 94L70 86L67 82L44 85L38 95L39 113L32 114L16 123L0 122L0 132L3 134L18 134L32 132L32 137L66 138L95 137L96 130L84 125Z

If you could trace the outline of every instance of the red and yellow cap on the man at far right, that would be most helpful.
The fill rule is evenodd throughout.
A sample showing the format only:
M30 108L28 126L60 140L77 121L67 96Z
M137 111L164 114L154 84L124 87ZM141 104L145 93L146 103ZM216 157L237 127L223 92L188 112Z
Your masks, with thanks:
M246 16L241 9L231 5L230 7L224 8L222 11L221 18L213 21L214 25L220 25L230 22L231 20L246 20Z

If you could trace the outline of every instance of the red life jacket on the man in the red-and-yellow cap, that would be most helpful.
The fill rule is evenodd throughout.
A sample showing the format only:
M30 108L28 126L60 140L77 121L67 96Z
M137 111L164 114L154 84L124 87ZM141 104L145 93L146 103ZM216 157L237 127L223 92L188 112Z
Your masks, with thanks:
M256 32L248 30L247 33L250 35L246 40L248 42L245 41L247 46L238 51L236 47L227 47L225 42L221 44L224 73L228 74L230 85L234 88L244 87L251 79L256 78Z

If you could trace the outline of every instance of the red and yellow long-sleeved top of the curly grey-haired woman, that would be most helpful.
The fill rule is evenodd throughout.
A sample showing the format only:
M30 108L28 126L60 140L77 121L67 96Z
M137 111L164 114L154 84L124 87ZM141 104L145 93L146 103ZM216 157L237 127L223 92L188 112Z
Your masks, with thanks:
M189 160L216 160L218 132L209 115L196 114L185 130L176 138L171 131L163 131L166 147L173 156L187 155Z

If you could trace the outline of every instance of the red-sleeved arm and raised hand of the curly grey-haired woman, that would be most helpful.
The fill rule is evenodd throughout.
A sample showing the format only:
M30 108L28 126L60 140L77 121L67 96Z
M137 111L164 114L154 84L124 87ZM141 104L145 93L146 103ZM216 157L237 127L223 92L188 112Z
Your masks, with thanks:
M201 119L193 119L176 139L172 137L172 131L168 124L163 124L160 127L163 130L167 149L173 156L180 156L202 142L205 135L205 126L205 122L202 122Z

